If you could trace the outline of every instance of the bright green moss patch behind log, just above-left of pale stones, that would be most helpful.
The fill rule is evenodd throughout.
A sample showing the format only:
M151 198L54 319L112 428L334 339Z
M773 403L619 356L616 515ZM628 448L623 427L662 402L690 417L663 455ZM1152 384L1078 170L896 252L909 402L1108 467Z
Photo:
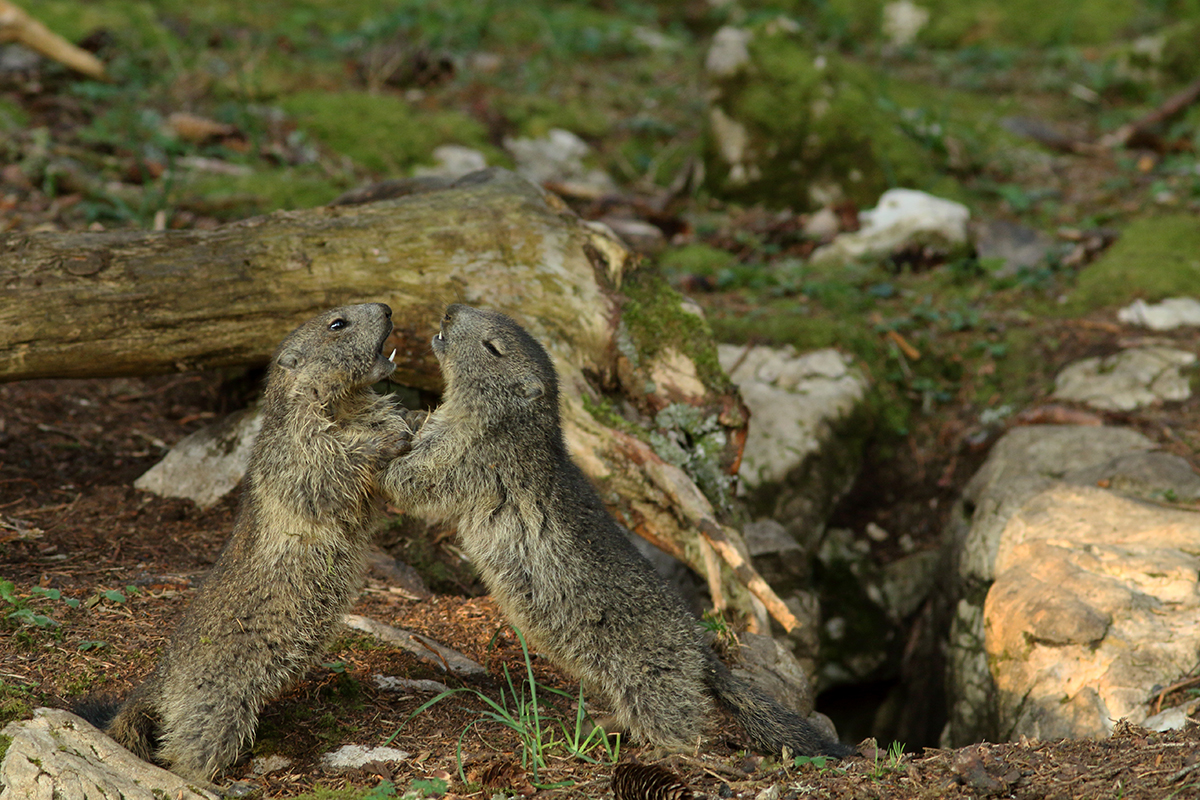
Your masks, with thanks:
M418 112L392 95L300 92L281 106L330 150L376 173L407 174L442 144L482 146L487 132L460 112Z

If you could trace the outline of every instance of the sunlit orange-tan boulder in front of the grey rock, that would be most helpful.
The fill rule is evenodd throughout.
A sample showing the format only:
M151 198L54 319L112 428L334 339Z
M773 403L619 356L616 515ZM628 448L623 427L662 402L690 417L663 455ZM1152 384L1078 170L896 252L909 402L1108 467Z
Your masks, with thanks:
M1054 486L1004 528L984 643L1009 738L1105 738L1200 651L1200 513Z

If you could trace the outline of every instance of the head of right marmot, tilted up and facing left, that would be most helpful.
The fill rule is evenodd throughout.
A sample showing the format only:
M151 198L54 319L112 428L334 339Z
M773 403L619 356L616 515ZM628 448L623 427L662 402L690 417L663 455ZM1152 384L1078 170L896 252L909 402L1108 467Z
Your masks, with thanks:
M554 365L511 318L455 303L442 317L433 353L445 378L445 404L493 425L550 415L557 427Z

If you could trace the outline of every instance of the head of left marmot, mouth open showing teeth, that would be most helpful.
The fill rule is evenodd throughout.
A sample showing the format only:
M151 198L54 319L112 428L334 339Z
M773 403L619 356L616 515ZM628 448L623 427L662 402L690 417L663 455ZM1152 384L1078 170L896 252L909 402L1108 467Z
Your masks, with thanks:
M342 306L292 331L271 359L266 385L288 397L326 404L390 375L395 355L384 354L391 308L382 302Z

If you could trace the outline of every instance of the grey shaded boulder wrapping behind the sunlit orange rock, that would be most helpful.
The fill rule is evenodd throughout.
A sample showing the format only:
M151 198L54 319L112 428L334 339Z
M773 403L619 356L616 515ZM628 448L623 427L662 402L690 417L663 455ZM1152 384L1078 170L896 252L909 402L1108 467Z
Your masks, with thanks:
M1187 462L1156 452L1154 443L1135 431L1028 426L1007 433L967 485L947 531L958 549L958 603L948 644L949 721L942 736L947 746L1014 735L1018 714L1004 705L1014 698L998 688L994 667L1000 662L991 658L988 645L989 625L995 627L995 621L988 621L992 618L985 602L1000 572L1010 566L1013 537L1022 535L1024 523L1013 523L1014 518L1044 492L1063 486L1104 486L1115 500L1200 498L1200 477ZM1103 512L1079 511L1103 519L1096 516ZM1013 684L1006 676L1003 685Z

